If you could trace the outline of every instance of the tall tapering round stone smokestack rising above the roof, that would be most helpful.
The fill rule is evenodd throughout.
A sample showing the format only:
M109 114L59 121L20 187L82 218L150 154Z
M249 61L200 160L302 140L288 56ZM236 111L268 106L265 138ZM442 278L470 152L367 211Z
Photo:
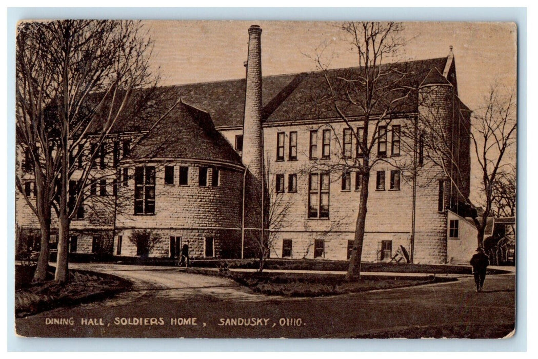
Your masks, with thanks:
M261 28L258 25L249 28L242 153L245 166L254 178L261 181L264 149L261 129Z

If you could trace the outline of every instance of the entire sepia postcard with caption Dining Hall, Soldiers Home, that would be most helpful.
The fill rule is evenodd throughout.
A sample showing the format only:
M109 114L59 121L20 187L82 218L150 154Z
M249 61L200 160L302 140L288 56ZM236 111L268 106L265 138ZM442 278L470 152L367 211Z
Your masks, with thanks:
M21 337L516 332L518 27L21 20Z

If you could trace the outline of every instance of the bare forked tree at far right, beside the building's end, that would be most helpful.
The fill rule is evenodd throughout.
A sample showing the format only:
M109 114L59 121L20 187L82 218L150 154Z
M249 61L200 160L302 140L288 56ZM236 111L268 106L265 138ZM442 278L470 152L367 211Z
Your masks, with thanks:
M422 105L427 107L427 104ZM431 164L429 168L424 166L420 171L442 171L455 192L450 206L456 207L458 202L463 204L464 208L460 208L459 212L472 217L478 230L478 245L483 244L487 217L494 213L498 196L496 192L498 193L502 181L506 180L504 170L511 166L507 154L513 151L516 143L515 106L514 90L506 91L501 86L493 85L484 98L483 107L471 118L468 135L471 138L471 156L478 165L476 173L480 181L479 198L474 201L464 185L467 170L462 168L457 151L450 146L452 133L445 131L444 122L436 118L435 110L430 111L429 116L419 118L417 133L424 146L423 156ZM466 117L462 113L457 116L461 119ZM513 193L515 200L515 192ZM479 207L483 209L480 214L477 211Z

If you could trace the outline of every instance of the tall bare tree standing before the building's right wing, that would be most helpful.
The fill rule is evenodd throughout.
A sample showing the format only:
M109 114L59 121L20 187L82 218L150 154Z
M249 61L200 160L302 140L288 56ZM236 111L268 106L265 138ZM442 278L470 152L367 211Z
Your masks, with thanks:
M391 163L391 159L385 156L387 126L392 122L392 115L400 110L404 100L416 88L406 85L409 73L404 63L387 61L398 59L404 50L405 40L401 36L400 23L350 22L343 24L342 30L351 51L357 56L357 67L329 70L323 60L326 47L318 48L313 59L325 80L325 88L319 91L322 95L318 102L329 104L328 110L343 123L344 137L355 139L357 156L351 155L351 148L344 150L342 144L342 161L330 165L319 161L316 167L339 173L355 171L360 175L355 237L346 274L346 279L350 280L360 277L370 173L380 161ZM356 122L352 122L356 119L359 119L358 127ZM334 137L341 136L341 133L333 131ZM378 148L379 143L385 147Z

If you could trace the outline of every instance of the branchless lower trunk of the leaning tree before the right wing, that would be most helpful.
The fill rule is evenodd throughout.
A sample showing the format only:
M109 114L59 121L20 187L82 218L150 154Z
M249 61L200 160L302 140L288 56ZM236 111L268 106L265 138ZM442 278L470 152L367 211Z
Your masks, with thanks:
M365 171L370 173L369 171ZM366 207L368 202L368 184L370 174L363 174L360 188L359 213L355 225L355 240L353 241L353 250L351 251L351 260L349 261L348 273L345 274L346 280L360 278L360 260L363 255L364 227L366 223Z

